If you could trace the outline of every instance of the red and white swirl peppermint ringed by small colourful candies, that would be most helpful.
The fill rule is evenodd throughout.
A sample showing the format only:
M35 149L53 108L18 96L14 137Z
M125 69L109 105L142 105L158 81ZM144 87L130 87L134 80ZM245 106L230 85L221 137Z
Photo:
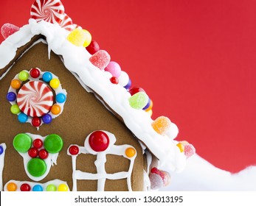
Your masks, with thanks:
M27 82L18 91L17 104L27 116L41 117L52 107L52 90L44 82Z

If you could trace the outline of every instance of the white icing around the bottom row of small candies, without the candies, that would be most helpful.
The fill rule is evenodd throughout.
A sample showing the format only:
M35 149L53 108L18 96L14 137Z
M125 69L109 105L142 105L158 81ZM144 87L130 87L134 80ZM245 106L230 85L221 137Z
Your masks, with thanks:
M13 183L15 183L15 184L17 185L17 190L16 190L16 191L21 191L21 185L22 185L22 184L25 184L25 183L28 184L28 185L30 185L31 191L32 191L32 188L33 188L35 185L41 185L41 187L43 188L43 191L46 191L46 188L47 188L48 185L55 185L56 188L58 189L58 186L61 185L61 184L66 185L66 186L68 187L68 191L69 191L69 185L67 184L67 182L62 181L62 180L58 180L58 179L50 180L50 181L45 182L45 183L9 180L9 181L4 185L4 191L8 191L8 190L7 190L7 185L8 185L10 182L13 182Z

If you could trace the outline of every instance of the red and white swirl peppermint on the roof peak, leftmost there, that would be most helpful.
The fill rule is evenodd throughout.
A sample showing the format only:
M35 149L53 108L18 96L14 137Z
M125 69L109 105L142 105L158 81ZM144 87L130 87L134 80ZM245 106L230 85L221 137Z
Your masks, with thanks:
M36 0L30 10L31 18L52 24L60 24L63 21L64 13L64 7L60 0Z

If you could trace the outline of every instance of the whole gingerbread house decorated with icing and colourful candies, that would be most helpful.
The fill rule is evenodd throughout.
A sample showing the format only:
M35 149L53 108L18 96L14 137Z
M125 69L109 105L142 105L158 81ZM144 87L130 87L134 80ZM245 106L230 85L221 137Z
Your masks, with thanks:
M49 10L51 15L44 15ZM128 74L36 0L29 24L2 27L0 180L4 191L145 191L170 182L195 150Z

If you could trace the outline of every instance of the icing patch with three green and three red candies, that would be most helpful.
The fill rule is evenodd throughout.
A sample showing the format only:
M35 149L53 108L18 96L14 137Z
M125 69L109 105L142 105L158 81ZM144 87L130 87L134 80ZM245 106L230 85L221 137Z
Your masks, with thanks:
M59 135L34 135L20 133L13 138L13 147L23 157L24 170L31 180L43 180L51 166L57 165L58 154L63 148Z

